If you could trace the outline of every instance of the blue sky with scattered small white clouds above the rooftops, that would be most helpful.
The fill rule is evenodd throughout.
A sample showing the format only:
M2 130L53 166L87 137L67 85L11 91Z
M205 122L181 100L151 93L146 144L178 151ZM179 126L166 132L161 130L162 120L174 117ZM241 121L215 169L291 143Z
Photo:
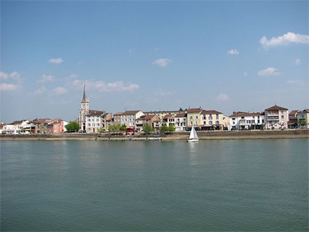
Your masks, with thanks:
M0 121L309 108L308 1L1 1Z

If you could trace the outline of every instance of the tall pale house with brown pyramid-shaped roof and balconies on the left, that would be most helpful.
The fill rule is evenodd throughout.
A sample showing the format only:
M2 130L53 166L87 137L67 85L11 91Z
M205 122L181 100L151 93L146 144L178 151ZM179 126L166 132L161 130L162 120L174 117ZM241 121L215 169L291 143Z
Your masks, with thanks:
M288 127L288 122L287 108L274 105L265 109L265 129L285 129Z

